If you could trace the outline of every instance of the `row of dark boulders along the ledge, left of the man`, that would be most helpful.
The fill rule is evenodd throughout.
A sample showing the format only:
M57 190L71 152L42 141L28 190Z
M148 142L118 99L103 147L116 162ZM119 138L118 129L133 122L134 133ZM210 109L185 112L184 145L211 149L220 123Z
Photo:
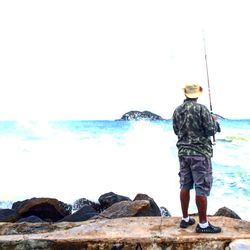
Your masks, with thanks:
M91 218L162 215L171 216L166 208L160 208L154 199L146 194L137 194L131 200L127 196L109 192L101 195L98 202L80 198L73 205L54 198L17 201L11 208L0 209L0 222L76 222Z

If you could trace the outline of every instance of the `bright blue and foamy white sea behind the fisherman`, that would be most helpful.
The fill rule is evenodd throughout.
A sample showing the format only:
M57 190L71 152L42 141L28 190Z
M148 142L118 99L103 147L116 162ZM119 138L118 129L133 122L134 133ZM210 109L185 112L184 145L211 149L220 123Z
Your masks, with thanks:
M250 221L250 120L219 122L208 214L228 207ZM181 216L176 141L171 120L0 121L0 208L143 193ZM189 212L197 212L194 191Z

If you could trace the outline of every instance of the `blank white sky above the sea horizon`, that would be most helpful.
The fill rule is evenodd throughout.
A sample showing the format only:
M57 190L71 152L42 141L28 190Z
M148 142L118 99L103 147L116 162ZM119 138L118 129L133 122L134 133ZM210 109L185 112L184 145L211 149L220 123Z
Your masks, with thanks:
M186 82L250 118L247 0L0 1L0 119L170 118Z

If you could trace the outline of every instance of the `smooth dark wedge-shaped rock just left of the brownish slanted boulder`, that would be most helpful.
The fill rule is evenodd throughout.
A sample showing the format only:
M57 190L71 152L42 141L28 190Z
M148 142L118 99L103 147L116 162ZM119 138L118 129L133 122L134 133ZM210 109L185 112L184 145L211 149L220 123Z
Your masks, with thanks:
M83 205L78 211L64 217L61 221L85 221L98 215L98 212L90 205Z

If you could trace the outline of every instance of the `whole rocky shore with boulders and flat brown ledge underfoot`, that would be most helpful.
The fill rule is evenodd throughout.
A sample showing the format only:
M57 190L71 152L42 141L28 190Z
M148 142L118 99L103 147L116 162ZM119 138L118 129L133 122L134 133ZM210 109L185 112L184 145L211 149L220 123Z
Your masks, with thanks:
M250 222L225 207L209 220L222 233L180 229L180 218L146 194L131 200L110 192L73 205L32 198L0 209L0 249L250 249Z

